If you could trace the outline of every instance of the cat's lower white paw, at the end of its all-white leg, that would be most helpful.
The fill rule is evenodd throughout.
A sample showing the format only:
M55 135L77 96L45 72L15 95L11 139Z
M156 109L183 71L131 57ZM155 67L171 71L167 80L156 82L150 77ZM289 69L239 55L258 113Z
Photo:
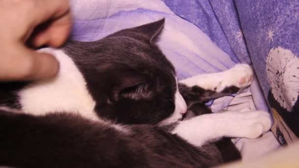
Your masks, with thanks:
M271 127L271 116L268 112L264 111L249 111L241 112L238 119L239 137L256 139L262 134L269 131Z

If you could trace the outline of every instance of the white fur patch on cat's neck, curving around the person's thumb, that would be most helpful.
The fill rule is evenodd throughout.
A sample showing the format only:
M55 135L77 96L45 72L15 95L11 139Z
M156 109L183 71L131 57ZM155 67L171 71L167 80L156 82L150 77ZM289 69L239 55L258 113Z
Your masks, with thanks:
M30 84L19 92L22 110L31 114L47 112L75 112L95 119L95 101L86 81L73 60L61 50L43 49L60 62L60 72L52 80Z

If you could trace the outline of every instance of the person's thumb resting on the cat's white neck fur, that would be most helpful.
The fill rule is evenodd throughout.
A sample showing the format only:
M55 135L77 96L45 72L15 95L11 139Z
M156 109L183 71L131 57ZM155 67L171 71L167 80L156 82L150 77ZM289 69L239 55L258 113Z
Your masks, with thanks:
M47 53L41 53L21 47L0 62L1 81L31 81L53 78L59 71L57 59Z

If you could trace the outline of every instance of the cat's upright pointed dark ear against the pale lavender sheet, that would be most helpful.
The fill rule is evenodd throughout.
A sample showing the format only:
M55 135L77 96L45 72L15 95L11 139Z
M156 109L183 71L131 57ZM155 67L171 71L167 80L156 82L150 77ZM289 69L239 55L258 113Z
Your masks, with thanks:
M146 35L150 43L155 43L164 27L164 24L165 24L165 18L133 29L136 32L141 32L144 35Z

